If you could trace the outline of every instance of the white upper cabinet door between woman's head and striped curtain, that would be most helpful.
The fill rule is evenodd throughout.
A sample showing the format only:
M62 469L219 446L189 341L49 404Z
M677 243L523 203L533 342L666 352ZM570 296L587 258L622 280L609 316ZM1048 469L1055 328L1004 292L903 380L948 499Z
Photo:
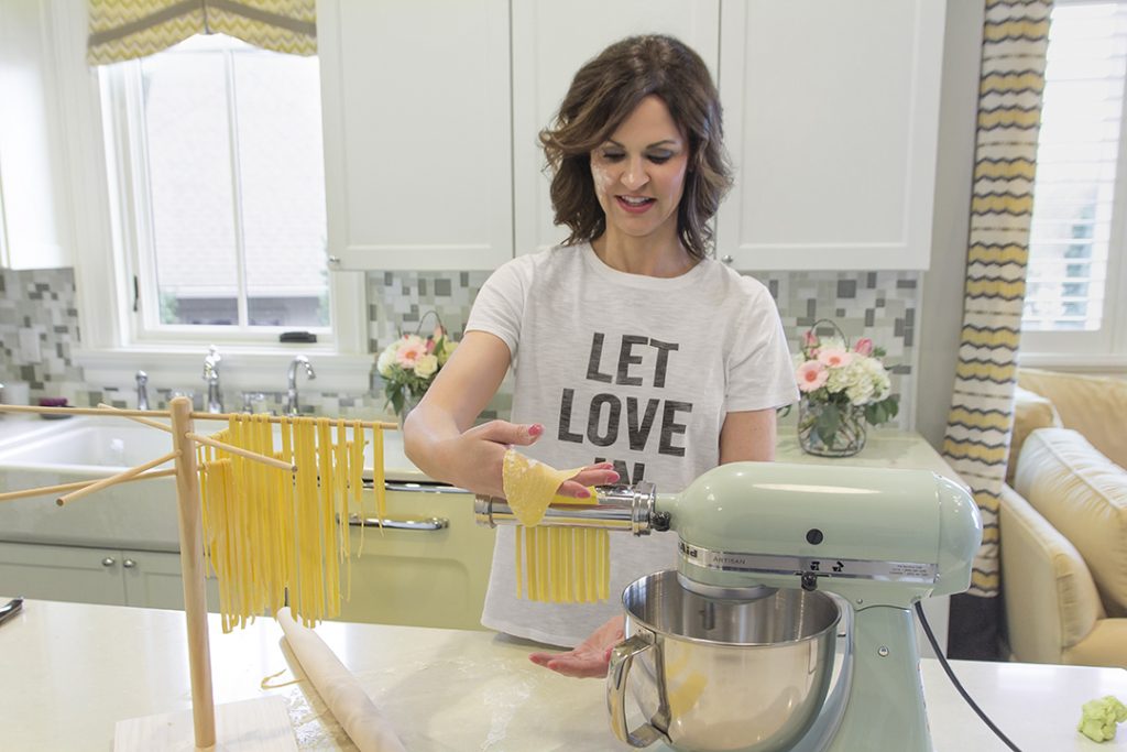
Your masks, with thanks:
M720 96L740 269L925 269L943 0L725 0ZM726 259L727 260L727 259Z

